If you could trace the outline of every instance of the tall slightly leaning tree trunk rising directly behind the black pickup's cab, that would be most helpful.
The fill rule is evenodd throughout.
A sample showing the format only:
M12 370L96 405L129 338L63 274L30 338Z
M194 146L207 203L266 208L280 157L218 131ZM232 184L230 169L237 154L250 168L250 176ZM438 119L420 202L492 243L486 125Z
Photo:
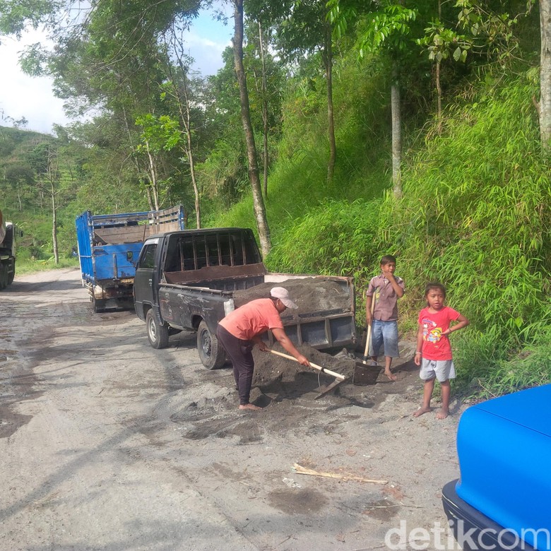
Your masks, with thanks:
M259 178L259 164L256 159L256 145L251 123L251 111L249 108L249 92L247 90L247 78L243 66L243 0L233 0L235 33L233 37L233 57L235 60L235 73L239 83L239 102L241 103L241 119L247 142L247 158L249 160L249 181L253 194L254 215L256 227L259 230L260 248L263 256L271 249L270 228L266 220L266 208L262 199L262 189Z

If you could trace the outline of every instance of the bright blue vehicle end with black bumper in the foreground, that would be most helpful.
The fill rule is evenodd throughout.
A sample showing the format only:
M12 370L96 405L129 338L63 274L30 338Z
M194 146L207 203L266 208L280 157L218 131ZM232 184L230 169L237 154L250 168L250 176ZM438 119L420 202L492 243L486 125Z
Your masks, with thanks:
M464 551L551 549L551 384L470 406L442 504Z

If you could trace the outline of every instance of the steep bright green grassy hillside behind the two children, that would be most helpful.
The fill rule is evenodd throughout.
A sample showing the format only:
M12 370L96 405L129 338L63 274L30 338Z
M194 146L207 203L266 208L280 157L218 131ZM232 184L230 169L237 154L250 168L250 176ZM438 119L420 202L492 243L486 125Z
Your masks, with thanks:
M413 129L400 200L391 194L388 141L369 141L348 124L343 156L354 159L353 170L326 189L326 147L302 136L310 126L315 136L317 122L292 122L300 134L283 141L301 149L288 147L293 155L271 176L268 266L354 276L361 324L362 290L380 257L395 254L408 290L400 303L406 335L431 281L444 283L449 304L471 321L454 338L463 391L491 396L550 381L551 182L532 102L535 74L530 66L506 76L489 70L446 109L441 136L434 122ZM213 223L254 227L251 199Z

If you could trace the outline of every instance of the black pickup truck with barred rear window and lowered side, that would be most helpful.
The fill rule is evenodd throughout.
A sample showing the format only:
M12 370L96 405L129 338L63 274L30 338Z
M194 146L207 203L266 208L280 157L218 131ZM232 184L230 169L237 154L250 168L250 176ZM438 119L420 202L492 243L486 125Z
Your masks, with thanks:
M149 237L136 264L134 306L146 321L153 348L167 347L172 333L196 331L201 362L215 369L226 361L216 337L218 321L240 305L242 291L269 283L285 286L285 281L296 283L297 279L304 280L304 285L330 280L334 300L330 291L323 309L312 303L312 309L306 304L298 314L281 316L295 345L308 343L324 350L354 344L352 278L269 273L248 228L183 230ZM273 343L269 333L268 341Z

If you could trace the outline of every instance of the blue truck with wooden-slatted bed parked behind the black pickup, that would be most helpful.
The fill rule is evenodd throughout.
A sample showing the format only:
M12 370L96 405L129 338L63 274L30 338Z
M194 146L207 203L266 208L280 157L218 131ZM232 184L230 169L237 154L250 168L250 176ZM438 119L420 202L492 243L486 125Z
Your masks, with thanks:
M94 312L134 307L136 261L150 235L184 230L184 208L76 217L78 259L83 287Z

